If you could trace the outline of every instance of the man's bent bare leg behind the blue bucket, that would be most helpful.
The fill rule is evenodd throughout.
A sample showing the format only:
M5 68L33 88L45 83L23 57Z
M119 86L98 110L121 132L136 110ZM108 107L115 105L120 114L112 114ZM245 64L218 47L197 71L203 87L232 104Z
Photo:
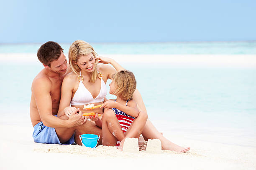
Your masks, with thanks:
M66 115L63 115L61 117L59 117L61 119L67 120L68 117ZM65 143L67 142L72 135L75 133L75 142L78 145L82 145L80 139L79 139L79 135L81 134L86 134L86 133L91 133L91 134L95 134L95 135L100 135L100 139L99 139L99 143L98 145L102 144L102 130L101 128L97 127L95 125L95 123L87 120L84 124L80 125L80 126L76 126L73 128L55 128L56 134L59 138L59 141L61 143Z

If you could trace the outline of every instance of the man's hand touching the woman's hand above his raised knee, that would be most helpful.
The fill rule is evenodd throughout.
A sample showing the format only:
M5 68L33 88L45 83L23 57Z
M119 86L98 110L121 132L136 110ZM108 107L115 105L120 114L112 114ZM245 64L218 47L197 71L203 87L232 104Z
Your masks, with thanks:
M77 113L78 112L78 113ZM86 117L82 115L82 112L79 109L75 109L71 112L69 117L69 125L71 128L75 126L82 125L86 122Z

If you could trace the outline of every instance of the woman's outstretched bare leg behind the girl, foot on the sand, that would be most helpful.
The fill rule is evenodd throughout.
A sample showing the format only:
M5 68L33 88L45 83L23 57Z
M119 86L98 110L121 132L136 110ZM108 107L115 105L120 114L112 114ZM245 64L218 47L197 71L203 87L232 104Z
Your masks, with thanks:
M138 109L147 113L146 106L142 100L140 92L137 89L133 94L133 99L137 102ZM164 138L164 136L161 135L158 130L156 130L150 120L146 121L146 125L143 129L142 135L146 140L159 139L161 141L163 150L174 150L176 152L187 152L188 150L190 150L190 147L182 148L179 145L176 145L168 139Z

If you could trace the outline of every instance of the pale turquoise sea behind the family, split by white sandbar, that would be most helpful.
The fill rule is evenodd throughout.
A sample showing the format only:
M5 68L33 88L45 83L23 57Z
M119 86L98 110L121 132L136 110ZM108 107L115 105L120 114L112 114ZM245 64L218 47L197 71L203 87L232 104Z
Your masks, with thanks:
M98 54L255 55L256 42L91 43ZM41 44L0 44L0 54L35 54ZM70 44L60 44L64 53ZM164 133L207 134L219 143L256 147L256 68L169 67L135 64L134 72L149 118ZM29 119L31 82L40 63L3 62L0 58L2 120ZM107 83L107 87L110 81ZM113 98L109 95L108 98ZM19 122L22 125L22 122ZM189 137L190 136L190 137ZM193 136L193 137L192 137ZM225 136L230 140L216 139ZM243 140L231 140L246 139Z

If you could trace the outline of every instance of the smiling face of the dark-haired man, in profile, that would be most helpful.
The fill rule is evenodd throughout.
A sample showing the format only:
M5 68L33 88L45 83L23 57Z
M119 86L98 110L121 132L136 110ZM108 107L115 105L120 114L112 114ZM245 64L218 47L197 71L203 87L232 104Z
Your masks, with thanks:
M51 62L51 70L59 74L65 74L67 71L67 59L63 52L59 56L58 60Z

